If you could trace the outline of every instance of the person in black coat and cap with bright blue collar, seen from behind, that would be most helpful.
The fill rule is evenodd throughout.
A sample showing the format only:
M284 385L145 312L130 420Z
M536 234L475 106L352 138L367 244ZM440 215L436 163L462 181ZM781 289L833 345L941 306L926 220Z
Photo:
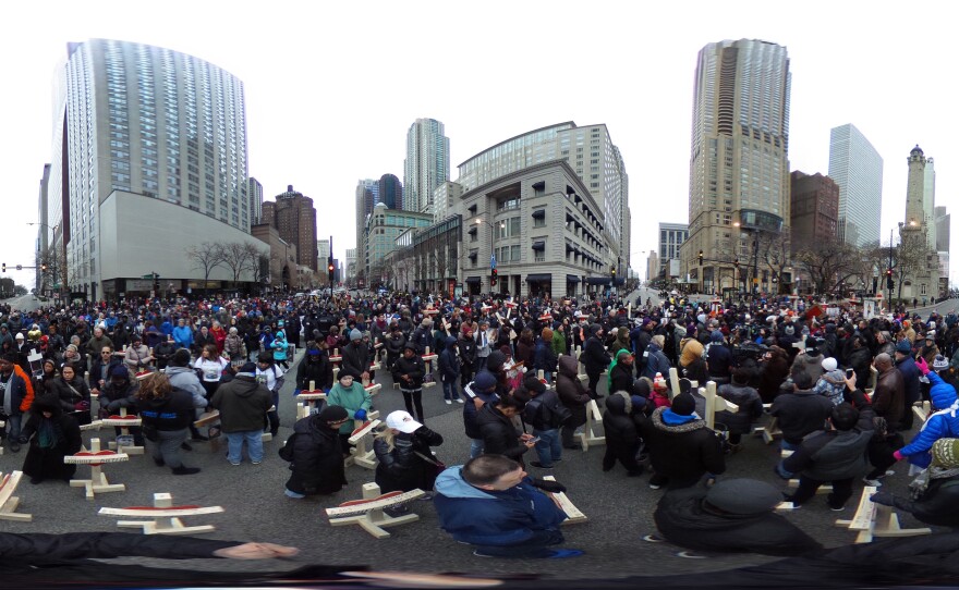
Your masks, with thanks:
M672 398L648 418L636 416L655 475L650 488L670 490L696 484L704 475L726 471L719 438L695 414L696 401L689 393Z

